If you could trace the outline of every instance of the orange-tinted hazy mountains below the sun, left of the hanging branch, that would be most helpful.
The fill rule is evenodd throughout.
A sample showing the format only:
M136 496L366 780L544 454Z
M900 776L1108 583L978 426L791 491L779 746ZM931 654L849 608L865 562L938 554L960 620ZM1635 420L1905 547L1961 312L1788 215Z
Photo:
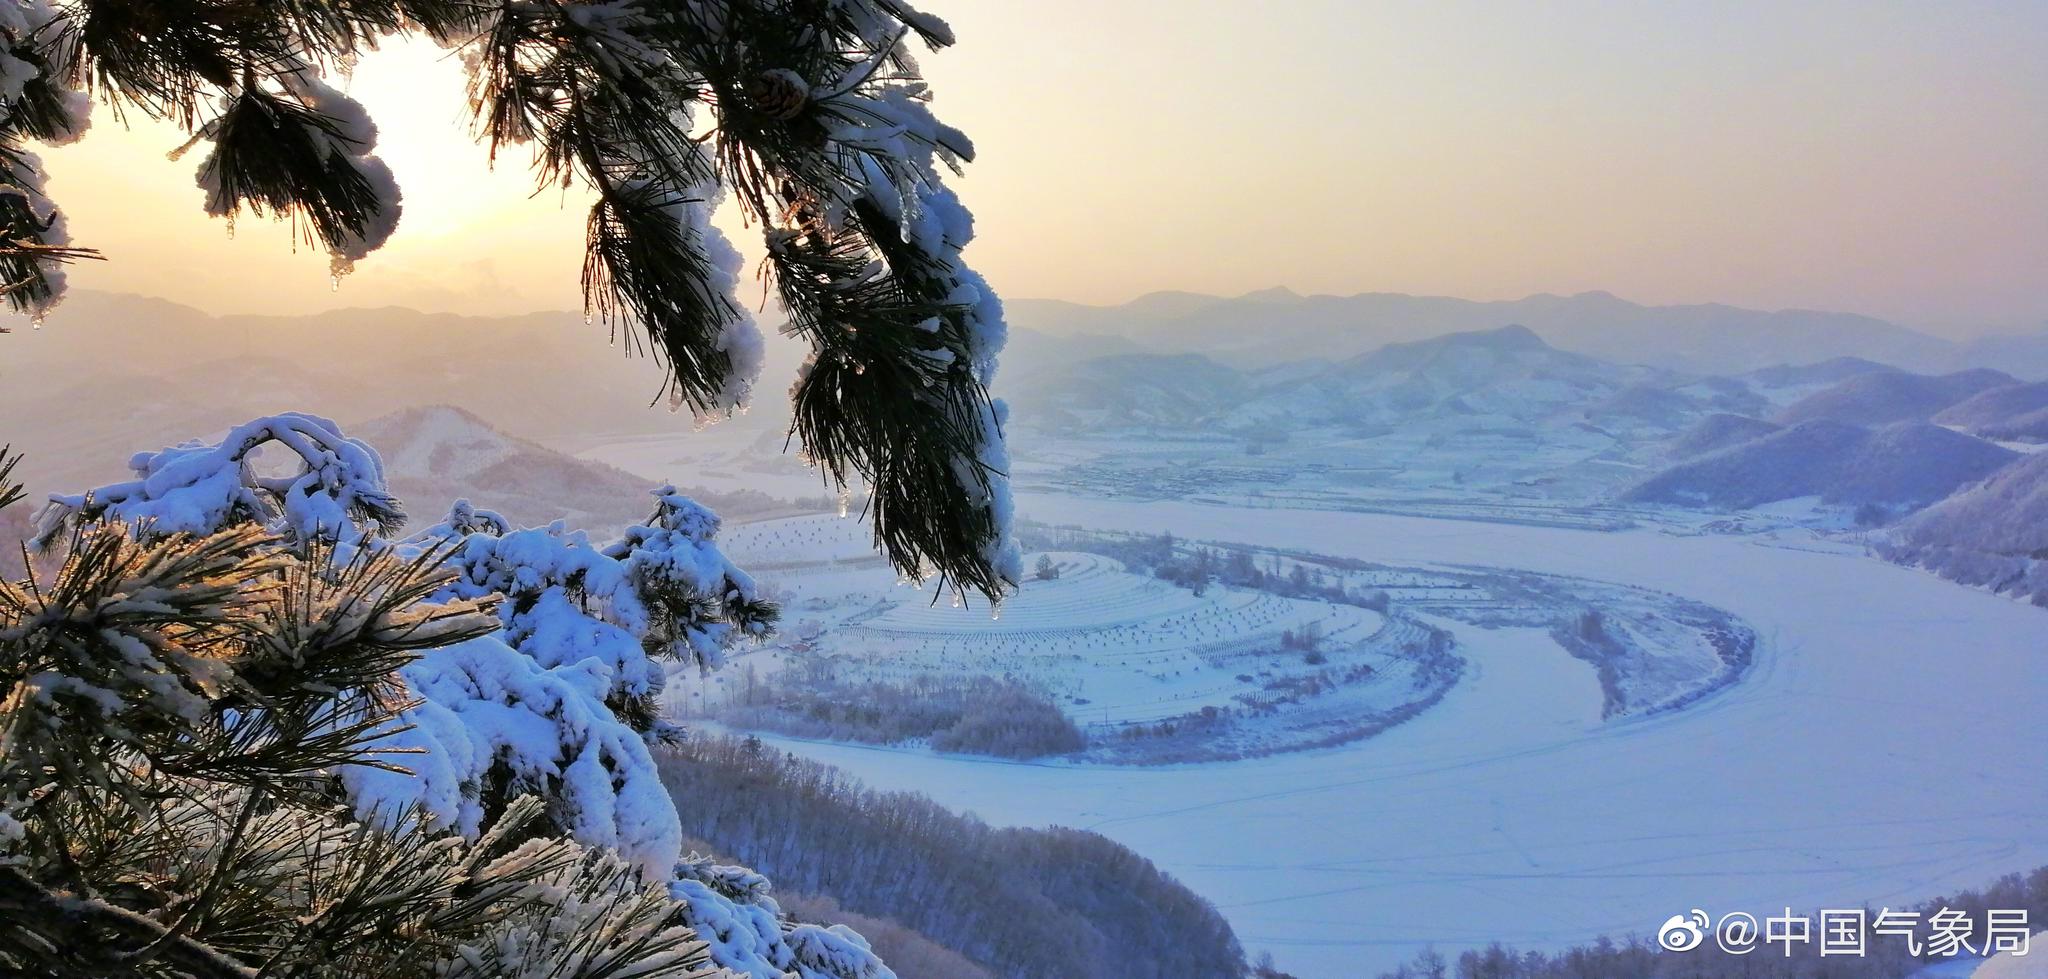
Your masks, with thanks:
M449 403L535 440L688 432L688 414L649 408L653 360L606 338L575 313L217 317L80 291L43 330L0 336L0 442L25 451L31 487L76 490L121 479L135 451L285 410L344 430Z

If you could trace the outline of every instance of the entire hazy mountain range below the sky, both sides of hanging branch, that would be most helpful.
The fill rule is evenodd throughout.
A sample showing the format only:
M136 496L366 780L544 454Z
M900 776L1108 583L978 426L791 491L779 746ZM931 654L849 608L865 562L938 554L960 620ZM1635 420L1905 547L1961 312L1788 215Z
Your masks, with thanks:
M1049 311L1063 320L1047 326ZM1499 324L1505 315L1552 326ZM1024 461L1049 438L1081 434L1112 446L1137 444L1130 432L1176 432L1225 438L1225 449L1229 438L1296 438L1300 453L1262 465L1403 471L1409 481L1401 485L1411 487L1434 479L1464 490L1550 483L1544 492L1563 498L1606 487L1710 506L1749 506L1780 490L1929 502L1944 496L1933 490L1976 479L2005 459L1974 436L2015 440L2048 428L2048 383L2017 381L2015 373L2025 377L2019 365L2005 365L2011 373L1901 371L1884 360L1956 358L1968 344L1837 313L1640 307L1597 293L1468 303L1270 291L1237 299L1163 293L1116 309L1020 301L1012 317L1040 324L1014 330L997 379L997 393L1016 406ZM1462 322L1483 326L1409 338ZM1094 332L1110 328L1120 332ZM1737 344L1739 336L1749 340ZM1571 338L1638 344L1642 356L1573 348ZM1663 346L1653 344L1659 338ZM0 438L29 453L35 490L76 490L119 479L121 461L137 449L311 410L369 426L393 457L418 457L420 465L393 467L418 481L401 485L416 498L451 496L518 457L522 471L557 473L498 487L532 510L520 518L578 512L610 526L631 514L580 506L573 487L588 477L612 496L625 483L559 469L567 457L537 453L618 434L686 434L692 418L649 408L657 367L604 340L602 326L573 313L213 317L156 299L82 293L45 330L0 340L8 422ZM2005 344L2019 350L2021 340ZM1182 350L1161 352L1167 342ZM1675 367L1702 350L1765 363ZM786 424L778 393L797 354L799 344L772 344L758 410L702 438L778 451ZM403 414L426 406L455 410ZM1808 422L1831 426L1802 428ZM1888 428L1901 422L1915 426ZM1473 453L1491 461L1473 463ZM1714 453L1733 455L1704 461ZM1870 479L1892 471L1888 459L1917 459L1935 473ZM1544 475L1559 467L1573 475ZM420 506L444 504L424 498ZM487 494L477 502L492 504Z

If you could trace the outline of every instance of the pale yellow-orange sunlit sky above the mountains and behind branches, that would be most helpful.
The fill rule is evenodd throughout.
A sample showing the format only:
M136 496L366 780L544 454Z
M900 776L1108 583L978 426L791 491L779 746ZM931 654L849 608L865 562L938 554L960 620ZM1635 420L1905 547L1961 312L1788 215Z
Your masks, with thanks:
M1606 289L1972 334L2048 320L2048 4L928 0L979 160L969 258L1012 297ZM346 88L406 193L330 291L287 227L201 213L182 137L104 109L45 154L84 289L211 311L575 305L580 197L485 170L461 66ZM756 233L731 225L743 250ZM61 313L59 313L61 315Z

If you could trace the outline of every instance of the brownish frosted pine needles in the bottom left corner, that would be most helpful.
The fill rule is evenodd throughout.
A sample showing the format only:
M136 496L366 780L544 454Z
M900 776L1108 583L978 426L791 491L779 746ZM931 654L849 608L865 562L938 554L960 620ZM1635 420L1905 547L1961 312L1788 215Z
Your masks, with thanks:
M106 522L66 549L0 582L0 973L713 973L686 907L543 836L539 797L465 840L338 793L338 766L403 772L395 670L500 629L489 602L424 602L442 553Z

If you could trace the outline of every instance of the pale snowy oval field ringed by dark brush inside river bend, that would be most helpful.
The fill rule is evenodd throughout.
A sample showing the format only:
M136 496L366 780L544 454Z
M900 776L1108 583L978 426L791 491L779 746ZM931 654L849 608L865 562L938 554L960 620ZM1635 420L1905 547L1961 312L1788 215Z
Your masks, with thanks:
M1362 737L1456 680L1456 659L1409 616L1221 584L1194 594L1096 553L1044 553L1057 578L1028 576L991 616L899 582L858 518L737 524L721 543L784 604L784 637L709 678L678 674L668 696L682 715L717 715L752 696L752 678L778 680L815 651L860 682L1026 680L1090 729L1094 758L1145 764ZM1311 631L1315 655L1286 647ZM1198 729L1171 725L1190 717Z

